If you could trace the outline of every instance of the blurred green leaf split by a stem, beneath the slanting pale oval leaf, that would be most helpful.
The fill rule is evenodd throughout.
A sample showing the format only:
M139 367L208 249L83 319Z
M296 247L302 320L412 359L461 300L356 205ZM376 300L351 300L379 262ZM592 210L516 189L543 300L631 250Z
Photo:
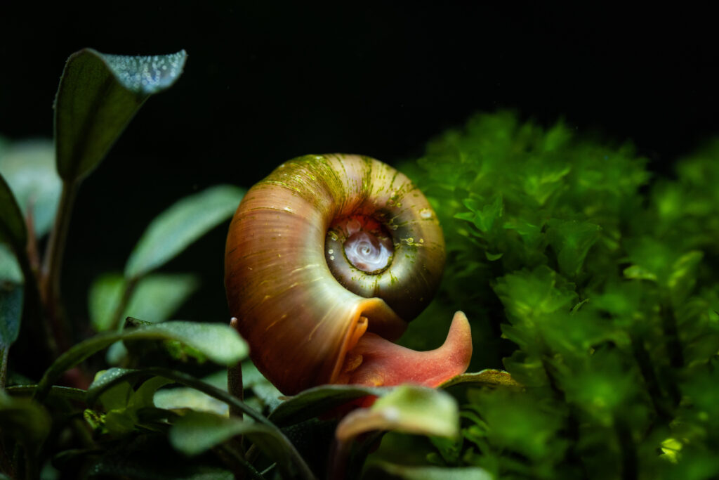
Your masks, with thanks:
M153 323L164 322L198 287L193 275L155 274L140 279L132 290L127 307L119 318L138 317ZM93 282L88 294L88 310L95 330L111 327L122 301L127 282L109 273Z

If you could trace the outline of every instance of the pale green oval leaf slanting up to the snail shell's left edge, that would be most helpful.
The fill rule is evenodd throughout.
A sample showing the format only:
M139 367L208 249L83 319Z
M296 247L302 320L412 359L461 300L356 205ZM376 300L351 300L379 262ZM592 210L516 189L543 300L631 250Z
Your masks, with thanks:
M244 190L218 185L176 202L155 218L125 266L126 279L138 279L170 261L188 245L232 216Z

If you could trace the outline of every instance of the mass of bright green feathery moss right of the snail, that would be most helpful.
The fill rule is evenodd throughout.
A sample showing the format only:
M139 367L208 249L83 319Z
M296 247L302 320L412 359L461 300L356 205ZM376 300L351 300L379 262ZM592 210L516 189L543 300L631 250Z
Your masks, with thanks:
M402 167L446 237L431 314L464 310L470 369L525 386L469 389L462 438L436 441L434 463L502 479L719 474L719 140L675 178L646 167L631 145L508 112Z

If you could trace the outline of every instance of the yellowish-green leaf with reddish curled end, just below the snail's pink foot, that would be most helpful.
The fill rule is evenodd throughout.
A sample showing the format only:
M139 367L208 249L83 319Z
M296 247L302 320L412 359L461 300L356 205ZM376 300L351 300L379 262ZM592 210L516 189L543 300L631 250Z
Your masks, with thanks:
M368 409L356 409L337 425L337 440L347 442L372 430L454 438L459 435L459 408L441 390L398 386Z

